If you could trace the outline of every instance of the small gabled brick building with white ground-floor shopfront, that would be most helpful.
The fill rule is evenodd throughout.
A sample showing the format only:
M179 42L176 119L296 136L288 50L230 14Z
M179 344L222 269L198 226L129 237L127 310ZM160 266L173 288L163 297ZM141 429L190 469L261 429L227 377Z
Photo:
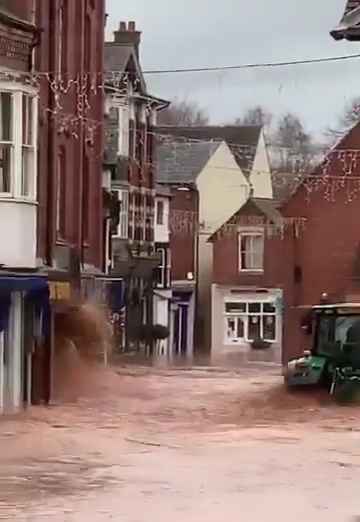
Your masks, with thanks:
M275 203L250 198L210 238L213 359L281 362L283 234L284 221Z

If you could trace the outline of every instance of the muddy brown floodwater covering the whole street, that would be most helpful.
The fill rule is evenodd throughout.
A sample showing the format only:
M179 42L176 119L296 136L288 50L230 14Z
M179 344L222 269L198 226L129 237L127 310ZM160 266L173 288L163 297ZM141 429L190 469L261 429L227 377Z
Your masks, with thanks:
M76 403L0 421L1 520L358 519L357 407L263 367L82 375Z

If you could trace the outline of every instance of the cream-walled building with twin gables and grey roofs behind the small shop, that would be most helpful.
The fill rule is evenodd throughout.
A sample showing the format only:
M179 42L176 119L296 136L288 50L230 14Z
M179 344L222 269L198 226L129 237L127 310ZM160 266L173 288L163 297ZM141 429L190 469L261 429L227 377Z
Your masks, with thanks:
M211 348L212 247L209 237L245 203L252 189L272 197L261 127L158 127L159 180L193 184L199 194L197 348ZM159 139L160 139L159 138Z

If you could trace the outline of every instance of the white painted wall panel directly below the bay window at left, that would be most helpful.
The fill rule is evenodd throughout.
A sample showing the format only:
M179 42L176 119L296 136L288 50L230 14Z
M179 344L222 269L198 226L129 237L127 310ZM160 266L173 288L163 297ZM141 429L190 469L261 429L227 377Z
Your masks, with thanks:
M36 225L36 204L0 199L0 264L36 268Z

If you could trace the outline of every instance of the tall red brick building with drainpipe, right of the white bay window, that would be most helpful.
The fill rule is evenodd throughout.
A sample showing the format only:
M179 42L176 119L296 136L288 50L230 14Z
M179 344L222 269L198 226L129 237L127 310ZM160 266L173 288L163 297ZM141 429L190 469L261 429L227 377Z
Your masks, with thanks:
M38 258L80 286L103 269L104 0L40 0Z

